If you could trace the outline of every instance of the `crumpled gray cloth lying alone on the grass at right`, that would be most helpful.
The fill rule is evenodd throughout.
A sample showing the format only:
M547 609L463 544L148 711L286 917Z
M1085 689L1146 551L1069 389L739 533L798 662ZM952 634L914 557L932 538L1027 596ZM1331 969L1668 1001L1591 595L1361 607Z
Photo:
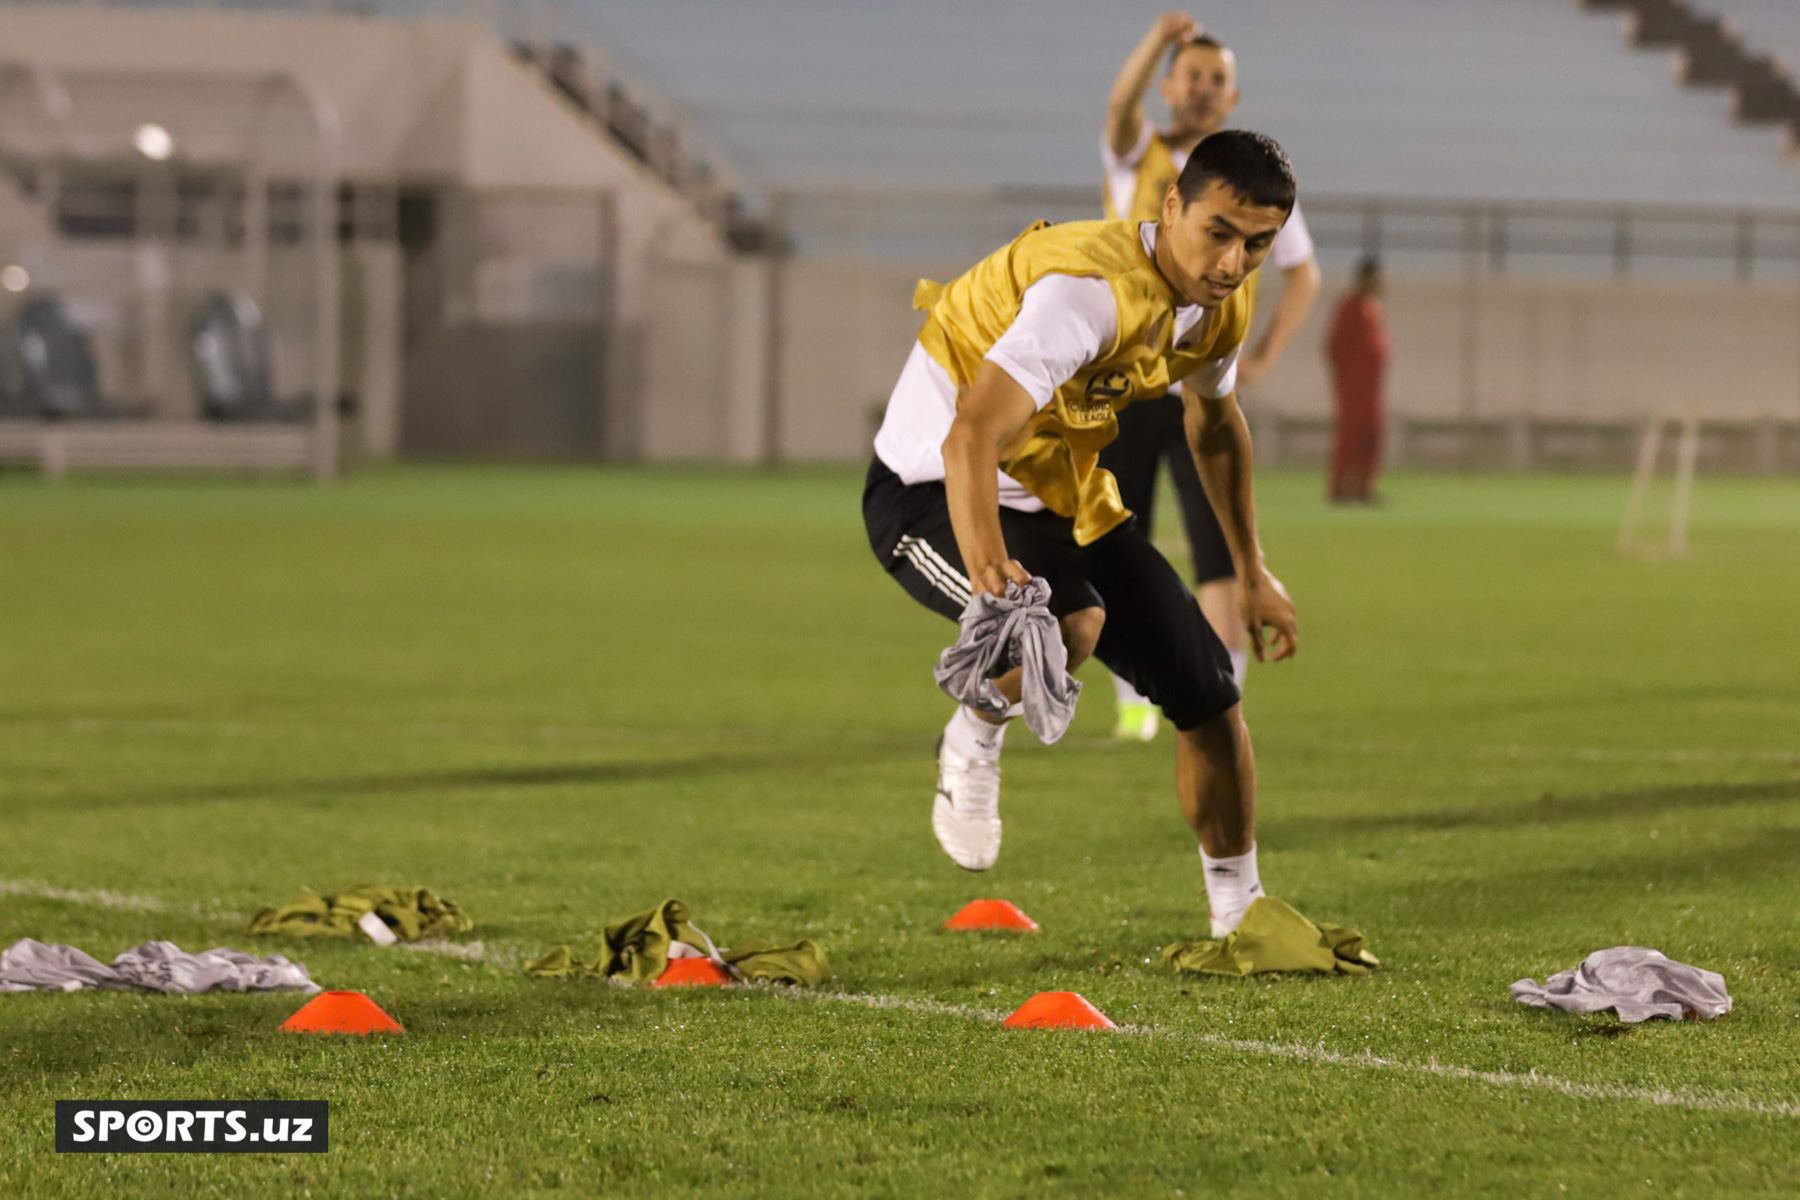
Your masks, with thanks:
M1521 979L1512 984L1512 999L1566 1013L1615 1009L1625 1024L1651 1016L1681 1020L1687 1015L1712 1020L1732 1011L1723 975L1643 946L1595 950L1580 966L1546 979L1543 988L1535 979Z

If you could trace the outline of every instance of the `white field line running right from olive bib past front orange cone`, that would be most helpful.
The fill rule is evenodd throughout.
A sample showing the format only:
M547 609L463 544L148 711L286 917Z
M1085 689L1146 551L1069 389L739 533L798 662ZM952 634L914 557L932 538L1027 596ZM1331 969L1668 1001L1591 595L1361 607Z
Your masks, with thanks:
M790 988L770 988L776 995L790 997L796 1000L819 1000L819 1002L839 1002L839 1004L857 1004L862 1007L875 1009L900 1009L909 1013L925 1013L932 1016L958 1016L961 1020L976 1020L983 1024L999 1024L1006 1018L1006 1013L994 1009L979 1009L967 1004L940 1004L936 1000L909 1000L905 997L886 997L886 995L862 995L853 991L797 991ZM1287 1058L1303 1063L1318 1063L1323 1067L1348 1067L1352 1070L1386 1070L1393 1074L1422 1074L1436 1076L1440 1079L1465 1079L1469 1083L1483 1083L1494 1088L1526 1088L1539 1092L1555 1092L1559 1096L1570 1096L1575 1099L1598 1099L1598 1101L1627 1101L1640 1105L1658 1105L1667 1108L1696 1108L1705 1112L1750 1112L1769 1117L1800 1117L1800 1103L1769 1103L1750 1099L1746 1096L1719 1096L1714 1092L1690 1092L1683 1088L1643 1088L1643 1087L1624 1087L1613 1083L1575 1083L1571 1079L1559 1079L1555 1076L1539 1074L1535 1070L1517 1072L1517 1070L1478 1070L1474 1067L1460 1067L1456 1063L1440 1063L1436 1060L1427 1061L1406 1061L1399 1058L1382 1058L1368 1051L1345 1054L1341 1051L1332 1051L1325 1045L1307 1045L1303 1042L1258 1042L1253 1038L1228 1038L1219 1033L1188 1033L1181 1029L1165 1029L1159 1025L1120 1025L1118 1033L1139 1038L1170 1038L1175 1042L1201 1042L1206 1045L1215 1045L1226 1051L1237 1051L1240 1054L1251 1056L1269 1056L1269 1058Z

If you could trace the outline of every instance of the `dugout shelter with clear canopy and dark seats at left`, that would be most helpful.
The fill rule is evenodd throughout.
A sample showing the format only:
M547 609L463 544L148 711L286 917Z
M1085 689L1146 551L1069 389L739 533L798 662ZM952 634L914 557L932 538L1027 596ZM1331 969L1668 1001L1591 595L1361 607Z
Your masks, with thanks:
M0 58L0 336L11 345L0 457L50 475L335 475L337 164L331 101L288 74ZM203 414L209 369L243 358L220 351L216 331L205 340L209 313L232 315L227 333L248 329L239 342L263 347L270 401L241 419ZM47 403L45 371L86 378L85 399Z

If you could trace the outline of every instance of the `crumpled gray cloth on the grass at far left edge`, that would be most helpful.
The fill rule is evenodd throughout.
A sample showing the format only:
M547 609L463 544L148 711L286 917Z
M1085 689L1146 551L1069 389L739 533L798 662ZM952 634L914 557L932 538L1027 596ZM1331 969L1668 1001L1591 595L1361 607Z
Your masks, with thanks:
M76 950L22 937L0 954L0 991L319 991L306 966L279 954L243 950L187 954L173 941L146 941L112 966Z

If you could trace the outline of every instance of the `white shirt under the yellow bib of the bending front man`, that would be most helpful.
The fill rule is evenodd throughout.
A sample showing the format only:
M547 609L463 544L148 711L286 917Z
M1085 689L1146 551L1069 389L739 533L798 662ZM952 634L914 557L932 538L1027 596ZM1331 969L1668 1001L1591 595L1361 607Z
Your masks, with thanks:
M1138 227L1143 248L1156 252L1156 223ZM1175 338L1181 340L1213 309L1184 304L1175 309ZM988 349L986 360L1010 374L1042 410L1057 389L1075 378L1075 372L1100 358L1118 336L1120 309L1112 284L1093 275L1044 275L1026 288L1019 317ZM1206 398L1229 396L1237 387L1237 358L1233 349L1195 367L1186 385L1201 389ZM914 342L913 353L900 371L887 414L875 435L875 453L905 484L925 484L943 479L943 439L956 421L956 383L936 358ZM1001 504L1021 513L1037 513L1044 502L1026 491L1024 484L1006 471L999 473Z

